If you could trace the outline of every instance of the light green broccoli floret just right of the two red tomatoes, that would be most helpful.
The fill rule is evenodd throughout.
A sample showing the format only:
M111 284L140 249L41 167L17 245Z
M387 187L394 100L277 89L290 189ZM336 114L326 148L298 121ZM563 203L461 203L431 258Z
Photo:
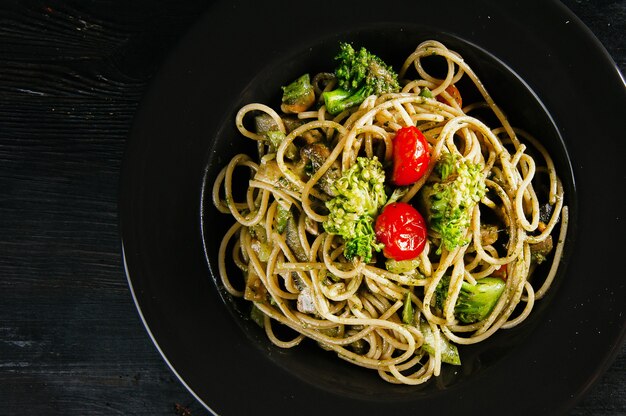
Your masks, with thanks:
M441 235L441 248L453 250L467 244L465 233L470 226L472 210L485 195L482 166L445 153L435 165L439 180L425 186L422 198L430 228Z

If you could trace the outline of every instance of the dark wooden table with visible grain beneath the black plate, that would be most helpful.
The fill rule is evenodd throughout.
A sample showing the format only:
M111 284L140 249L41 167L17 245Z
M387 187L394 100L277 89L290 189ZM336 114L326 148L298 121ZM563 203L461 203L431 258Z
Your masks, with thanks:
M626 1L565 3L626 73ZM137 314L117 190L142 95L208 5L0 2L0 415L207 414ZM626 414L626 348L572 414Z

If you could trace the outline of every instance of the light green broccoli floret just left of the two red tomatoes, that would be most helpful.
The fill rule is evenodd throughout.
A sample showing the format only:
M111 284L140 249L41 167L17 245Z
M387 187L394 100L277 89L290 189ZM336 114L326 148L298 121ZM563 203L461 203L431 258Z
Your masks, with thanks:
M376 243L373 223L387 202L384 183L385 172L378 158L358 157L332 184L336 196L326 202L329 214L324 229L343 237L348 260L358 256L369 262L372 250L382 249L382 244Z

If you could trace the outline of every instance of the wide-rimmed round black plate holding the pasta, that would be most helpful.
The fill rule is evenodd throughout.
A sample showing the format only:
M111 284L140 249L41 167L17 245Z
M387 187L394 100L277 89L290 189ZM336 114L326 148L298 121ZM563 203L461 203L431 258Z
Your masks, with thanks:
M218 2L145 97L121 183L129 284L157 348L214 412L560 413L618 352L626 333L618 261L626 88L614 63L557 2L419 3L380 10L342 2L323 11ZM219 290L213 259L230 219L202 197L205 180L245 149L233 123L242 104L273 104L284 80L328 69L338 40L380 50L397 65L427 38L462 53L514 124L545 137L574 221L567 269L531 319L464 349L458 371L424 386L392 386L311 345L273 347Z

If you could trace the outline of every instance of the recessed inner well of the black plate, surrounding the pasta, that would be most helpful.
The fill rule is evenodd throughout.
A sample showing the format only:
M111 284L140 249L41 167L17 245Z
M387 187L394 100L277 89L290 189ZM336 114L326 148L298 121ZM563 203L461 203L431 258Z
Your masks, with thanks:
M430 397L436 390L463 388L457 387L456 384L464 381L471 382L477 374L518 348L532 333L536 323L543 319L542 312L562 280L571 252L569 248L574 243L574 227L568 232L566 249L555 284L547 299L537 303L530 319L515 330L501 331L489 342L460 347L463 362L460 368L444 366L443 375L437 379L431 379L428 383L420 386L397 386L384 382L375 372L366 371L339 360L334 353L322 351L313 342L305 343L295 349L284 350L274 346L267 339L264 330L249 317L250 303L234 299L223 288L218 271L217 253L221 241L220 236L226 234L234 221L229 215L221 214L214 207L212 203L213 182L220 170L236 154L246 153L252 157L256 155L256 143L242 137L235 127L235 115L239 108L253 102L279 108L282 96L280 86L306 72L315 74L332 71L335 65L333 57L337 54L341 41L364 45L376 51L385 62L399 68L406 57L415 50L417 44L428 39L436 39L448 48L461 53L479 78L486 83L487 89L493 91L492 95L496 103L504 108L512 125L523 126L529 133L541 139L554 158L565 189L565 204L569 206L572 223L575 224L576 192L565 144L557 126L537 95L511 68L488 51L454 35L433 31L419 25L376 24L356 28L347 33L337 33L311 44L298 45L293 50L285 50L280 59L266 63L265 68L247 85L233 108L225 109L227 117L209 146L202 187L201 225L209 271L225 307L233 315L231 324L238 324L248 337L250 344L277 367L287 370L315 388L322 388L334 394L359 400L397 403L401 400ZM472 95L472 91L460 88L466 102L472 102L471 99L467 99L469 95ZM246 186L246 183L243 182L241 186ZM542 273L547 273L547 270L538 271L536 274ZM233 268L229 274L237 280L233 275L241 275L241 272Z

